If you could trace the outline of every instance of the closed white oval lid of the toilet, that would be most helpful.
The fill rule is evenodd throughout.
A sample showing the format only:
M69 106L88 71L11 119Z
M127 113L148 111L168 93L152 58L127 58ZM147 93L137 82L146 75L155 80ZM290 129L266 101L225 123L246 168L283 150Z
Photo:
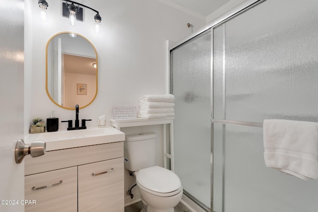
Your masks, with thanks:
M139 170L136 181L157 193L171 193L181 187L180 179L174 172L159 166Z

